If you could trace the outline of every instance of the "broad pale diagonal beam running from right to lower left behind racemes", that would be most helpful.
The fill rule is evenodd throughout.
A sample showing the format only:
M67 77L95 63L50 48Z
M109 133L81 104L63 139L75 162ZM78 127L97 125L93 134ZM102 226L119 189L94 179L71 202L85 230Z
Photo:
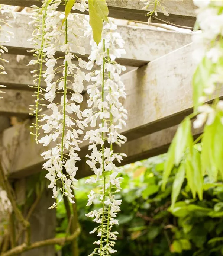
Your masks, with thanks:
M191 78L195 68L192 51L193 44L189 44L123 75L127 91L124 106L129 119L122 133L129 141L177 125L191 113ZM222 90L217 94L223 96ZM4 145L12 144L14 134L19 135L20 143L15 150L17 155L13 157L11 172L21 174L40 168L43 161L39 154L48 147L43 149L42 145L35 145L29 135L29 124L6 129ZM87 141L81 144L81 157L85 156L88 145Z

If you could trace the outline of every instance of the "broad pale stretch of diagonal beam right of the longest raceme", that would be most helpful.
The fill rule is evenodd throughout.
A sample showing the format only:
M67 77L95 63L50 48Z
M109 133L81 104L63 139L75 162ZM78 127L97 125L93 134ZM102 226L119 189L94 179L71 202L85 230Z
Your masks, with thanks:
M122 134L129 141L177 125L192 112L193 49L188 44L122 76L129 116ZM223 96L223 90L218 93Z

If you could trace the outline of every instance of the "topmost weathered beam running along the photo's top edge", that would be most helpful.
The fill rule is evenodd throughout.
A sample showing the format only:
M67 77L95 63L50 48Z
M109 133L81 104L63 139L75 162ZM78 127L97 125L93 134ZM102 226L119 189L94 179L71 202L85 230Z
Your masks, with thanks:
M106 0L109 6L109 16L117 19L147 21L145 17L146 11L141 10L144 7L139 0ZM1 4L17 5L23 7L30 7L33 4L41 6L41 1L38 0L0 0ZM162 0L164 6L169 13L165 16L160 9L158 9L158 18L183 26L194 26L195 23L195 6L193 0ZM153 8L153 6L151 7ZM64 6L59 6L58 10L64 10ZM86 14L88 14L86 12ZM157 20L154 20L157 22ZM162 23L162 22L159 22Z

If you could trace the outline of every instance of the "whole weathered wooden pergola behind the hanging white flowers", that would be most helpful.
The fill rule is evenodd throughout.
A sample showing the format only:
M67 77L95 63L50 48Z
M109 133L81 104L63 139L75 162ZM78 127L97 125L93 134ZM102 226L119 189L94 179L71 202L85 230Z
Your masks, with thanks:
M134 21L148 19L145 16L146 11L141 10L143 4L139 0L107 0L107 3L110 17ZM40 5L41 1L0 0L0 4L30 7L33 4ZM169 16L158 12L160 20L153 19L152 22L194 26L196 15L192 0L163 0L162 4L166 7ZM7 89L0 101L2 148L0 153L9 165L10 178L18 180L18 184L23 184L22 180L41 171L43 164L40 156L43 151L42 145L34 143L29 128L32 122L29 105L33 104L33 91L28 85L33 81L30 73L33 67L26 67L32 58L26 50L32 48L27 39L31 38L33 28L32 25L28 25L30 18L26 14L18 13L16 20L5 14L3 19L12 25L15 37L10 43L5 44L9 49L9 53L5 56L9 63L4 64L8 75L1 77L1 84L6 85ZM117 62L127 66L127 72L122 75L122 79L126 86L127 98L124 106L128 111L129 119L122 131L127 137L127 143L115 150L127 154L122 162L127 164L165 153L174 137L177 125L192 112L191 79L195 69L192 59L194 45L191 43L191 33L158 31L134 26L118 26L118 32L125 40L127 52ZM86 48L87 58L90 47L86 40L83 45ZM17 62L17 54L26 56ZM222 91L218 93L223 96ZM81 108L86 106L86 99L87 94L84 93ZM10 127L10 116L16 116L23 121ZM197 136L200 132L196 130L193 134ZM81 144L81 162L77 178L92 174L85 163L87 150L88 142L85 141ZM51 201L51 195L46 197ZM55 212L52 211L51 214ZM44 227L42 225L39 228Z

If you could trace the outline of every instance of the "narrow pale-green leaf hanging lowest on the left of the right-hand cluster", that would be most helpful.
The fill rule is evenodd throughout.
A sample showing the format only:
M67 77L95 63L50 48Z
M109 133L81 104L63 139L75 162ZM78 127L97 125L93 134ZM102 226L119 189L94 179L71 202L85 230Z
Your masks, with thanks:
M182 163L178 169L178 172L175 176L174 183L172 186L172 194L171 194L172 205L171 205L171 207L174 207L174 204L177 201L177 197L180 194L180 190L181 190L182 184L184 182L184 177L185 177L185 164Z

